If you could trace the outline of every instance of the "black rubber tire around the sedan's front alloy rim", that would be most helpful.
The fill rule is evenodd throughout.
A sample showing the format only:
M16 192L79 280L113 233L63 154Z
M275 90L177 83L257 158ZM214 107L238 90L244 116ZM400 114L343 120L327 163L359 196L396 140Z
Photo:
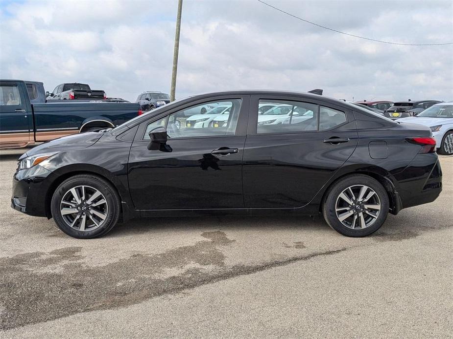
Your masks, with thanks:
M71 227L61 212L63 198L72 188L79 186L85 186L99 191L105 198L108 207L104 221L99 223L99 226L94 227L93 230L80 231ZM74 238L90 239L108 233L116 225L121 211L121 204L117 191L107 180L93 174L78 174L66 179L57 187L52 196L50 210L58 228L64 233ZM76 215L80 213L82 212L80 211ZM88 211L86 213L89 214Z

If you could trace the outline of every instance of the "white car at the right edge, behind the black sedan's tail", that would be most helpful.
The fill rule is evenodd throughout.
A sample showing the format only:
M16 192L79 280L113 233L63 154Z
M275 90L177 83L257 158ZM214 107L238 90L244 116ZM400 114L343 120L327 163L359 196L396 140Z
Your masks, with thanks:
M413 117L397 121L428 126L439 154L453 154L453 102L433 105Z

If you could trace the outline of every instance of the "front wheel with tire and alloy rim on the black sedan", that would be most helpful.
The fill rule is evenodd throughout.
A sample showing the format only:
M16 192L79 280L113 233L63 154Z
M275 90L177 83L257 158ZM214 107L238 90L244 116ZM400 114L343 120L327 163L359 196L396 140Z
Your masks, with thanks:
M63 181L50 204L58 228L79 239L108 233L118 222L121 209L115 188L92 174L74 175Z

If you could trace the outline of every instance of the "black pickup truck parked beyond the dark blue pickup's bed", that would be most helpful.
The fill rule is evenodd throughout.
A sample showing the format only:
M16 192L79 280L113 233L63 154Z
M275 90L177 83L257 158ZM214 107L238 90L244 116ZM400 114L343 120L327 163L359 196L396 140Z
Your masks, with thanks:
M100 89L91 89L87 84L60 84L52 93L47 94L47 101L77 100L77 99L105 99L105 92Z

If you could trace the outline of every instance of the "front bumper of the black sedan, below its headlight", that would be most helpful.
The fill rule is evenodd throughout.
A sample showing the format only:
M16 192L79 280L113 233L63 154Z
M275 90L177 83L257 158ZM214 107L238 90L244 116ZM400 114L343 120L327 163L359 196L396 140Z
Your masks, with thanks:
M16 171L13 176L11 207L29 215L49 216L46 212L46 199L48 177L51 175L51 171L39 165Z

